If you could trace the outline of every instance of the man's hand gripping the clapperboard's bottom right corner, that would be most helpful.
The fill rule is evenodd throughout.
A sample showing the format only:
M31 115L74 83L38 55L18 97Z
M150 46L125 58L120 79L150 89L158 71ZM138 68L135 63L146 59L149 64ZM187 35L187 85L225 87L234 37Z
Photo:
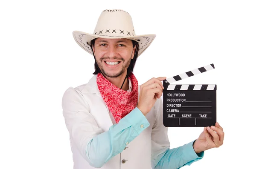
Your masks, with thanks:
M223 144L224 132L223 128L219 125L218 122L215 123L215 126L204 127L204 131L195 140L193 148L196 153L200 153L207 149L212 149L214 147L219 147Z

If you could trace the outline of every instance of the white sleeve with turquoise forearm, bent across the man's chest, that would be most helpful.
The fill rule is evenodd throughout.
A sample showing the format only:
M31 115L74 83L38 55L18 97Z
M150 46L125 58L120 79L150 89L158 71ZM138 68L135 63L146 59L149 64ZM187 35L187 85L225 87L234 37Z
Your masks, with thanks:
M79 152L93 167L102 167L125 149L150 123L137 107L103 132L97 125L83 96L68 88L62 97L63 116L70 137Z

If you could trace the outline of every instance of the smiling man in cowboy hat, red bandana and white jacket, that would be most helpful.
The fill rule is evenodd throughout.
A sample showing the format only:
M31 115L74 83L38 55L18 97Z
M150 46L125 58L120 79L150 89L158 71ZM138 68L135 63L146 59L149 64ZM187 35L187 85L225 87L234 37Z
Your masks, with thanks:
M135 35L131 16L117 9L102 11L93 34L73 32L95 58L94 76L68 88L62 98L74 169L178 169L223 144L216 123L197 140L169 149L160 98L166 77L139 86L133 74L137 57L155 36Z

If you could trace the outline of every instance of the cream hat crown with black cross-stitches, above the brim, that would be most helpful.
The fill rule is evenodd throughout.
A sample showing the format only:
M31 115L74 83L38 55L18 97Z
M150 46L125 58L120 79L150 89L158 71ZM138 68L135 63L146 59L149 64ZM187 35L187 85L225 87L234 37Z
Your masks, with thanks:
M136 35L131 15L120 9L102 11L93 34L117 37Z

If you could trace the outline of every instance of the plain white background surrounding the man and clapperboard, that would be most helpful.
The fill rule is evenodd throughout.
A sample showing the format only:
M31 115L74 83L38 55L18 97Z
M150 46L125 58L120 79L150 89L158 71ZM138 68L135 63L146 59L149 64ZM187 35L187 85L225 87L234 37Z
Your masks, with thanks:
M93 33L105 9L131 14L139 34L157 34L138 58L139 84L214 63L173 84L217 84L223 146L186 169L253 169L256 3L251 0L9 0L0 3L0 168L72 169L61 98L87 83L93 56L72 32ZM203 128L169 128L171 148ZM250 153L250 154L249 154Z

